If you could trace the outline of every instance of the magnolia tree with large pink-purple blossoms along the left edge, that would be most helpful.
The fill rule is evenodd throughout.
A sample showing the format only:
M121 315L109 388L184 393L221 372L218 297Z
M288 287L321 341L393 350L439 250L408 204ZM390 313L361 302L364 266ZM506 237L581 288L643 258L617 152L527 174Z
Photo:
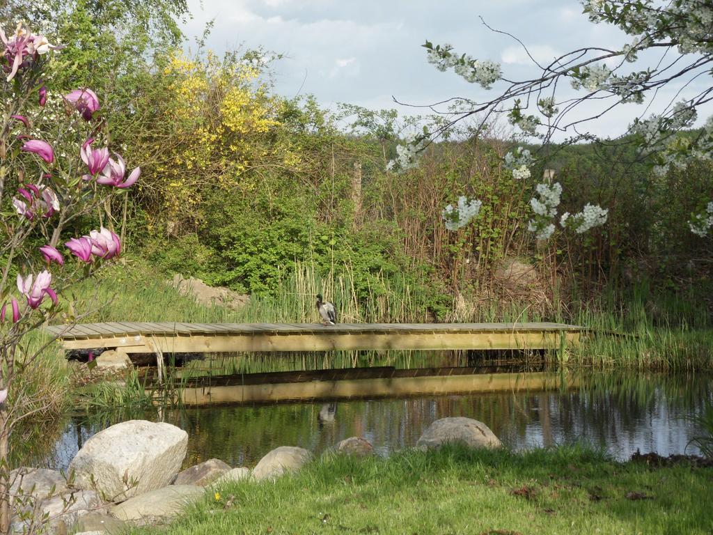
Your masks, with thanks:
M21 389L51 342L21 343L53 320L63 290L118 257L121 243L106 228L66 239L63 230L109 196L130 188L121 156L109 152L100 102L90 88L64 96L47 90L53 54L61 47L19 24L5 34L0 81L0 532L9 533L9 443L14 427L41 400ZM34 337L38 340L39 337ZM30 350L29 347L34 347ZM33 526L34 524L28 524ZM26 528L27 526L26 525Z

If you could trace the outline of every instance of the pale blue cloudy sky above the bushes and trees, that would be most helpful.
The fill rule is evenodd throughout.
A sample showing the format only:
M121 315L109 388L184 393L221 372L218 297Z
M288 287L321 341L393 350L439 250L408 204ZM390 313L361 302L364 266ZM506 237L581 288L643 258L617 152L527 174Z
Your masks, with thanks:
M478 59L498 61L508 78L536 76L523 47L494 33L483 21L523 41L538 61L582 46L616 47L631 41L613 26L591 23L576 0L189 0L188 4L192 18L184 30L189 46L214 19L208 48L221 53L262 47L284 54L274 65L275 91L287 97L313 94L328 107L345 102L426 113L399 106L394 98L426 106L454 96L482 100L504 87L486 91L452 71L437 71L421 47L426 39L452 44ZM702 83L709 83L709 78ZM665 106L676 90L670 86L656 103ZM586 111L590 109L583 108ZM616 136L642 111L642 106L626 106L598 120L590 131Z

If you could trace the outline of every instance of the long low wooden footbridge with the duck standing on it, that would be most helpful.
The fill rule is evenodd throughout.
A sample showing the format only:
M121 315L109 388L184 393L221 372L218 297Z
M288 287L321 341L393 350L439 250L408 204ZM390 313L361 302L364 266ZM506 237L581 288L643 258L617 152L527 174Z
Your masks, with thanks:
M560 323L179 323L111 322L46 327L67 350L124 353L329 350L547 350L579 342Z

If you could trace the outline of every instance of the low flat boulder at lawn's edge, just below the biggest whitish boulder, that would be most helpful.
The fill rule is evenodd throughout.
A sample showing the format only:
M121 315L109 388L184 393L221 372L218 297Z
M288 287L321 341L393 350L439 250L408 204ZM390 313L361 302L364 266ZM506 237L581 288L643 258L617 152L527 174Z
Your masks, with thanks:
M185 506L198 501L205 493L202 486L170 485L135 496L111 509L120 520L135 524L153 524L176 516Z

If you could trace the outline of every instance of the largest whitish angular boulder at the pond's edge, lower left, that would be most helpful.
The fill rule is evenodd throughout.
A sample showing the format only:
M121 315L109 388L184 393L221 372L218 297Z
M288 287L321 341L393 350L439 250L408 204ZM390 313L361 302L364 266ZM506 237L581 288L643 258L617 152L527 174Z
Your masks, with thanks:
M129 420L88 439L69 470L78 488L121 501L170 484L187 445L188 433L175 425Z

